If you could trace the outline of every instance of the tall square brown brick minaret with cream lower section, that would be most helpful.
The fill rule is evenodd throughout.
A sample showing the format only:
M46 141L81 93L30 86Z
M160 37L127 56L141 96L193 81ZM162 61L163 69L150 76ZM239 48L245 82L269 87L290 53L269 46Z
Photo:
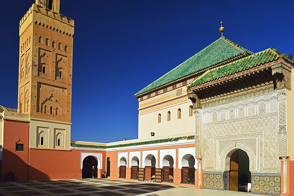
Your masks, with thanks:
M39 126L48 128L48 133L42 129L47 134L42 147L48 140L45 148L53 148L49 129L53 133L60 128L53 124L71 123L74 20L59 14L59 5L60 0L36 0L19 25L18 112L30 114L31 120L51 123L31 124L32 137L37 138L30 146L40 143L35 135L40 135L36 131ZM70 125L66 132L70 136Z

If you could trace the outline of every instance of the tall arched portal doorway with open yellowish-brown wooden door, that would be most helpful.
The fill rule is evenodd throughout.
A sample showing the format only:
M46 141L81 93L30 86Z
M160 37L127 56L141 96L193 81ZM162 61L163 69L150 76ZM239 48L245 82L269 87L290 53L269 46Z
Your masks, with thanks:
M248 192L251 188L249 157L244 150L236 149L230 156L229 190Z

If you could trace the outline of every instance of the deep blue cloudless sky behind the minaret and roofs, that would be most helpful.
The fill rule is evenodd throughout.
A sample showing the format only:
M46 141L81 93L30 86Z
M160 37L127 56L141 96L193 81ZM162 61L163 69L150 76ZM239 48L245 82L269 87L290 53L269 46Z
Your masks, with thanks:
M17 108L19 20L35 0L1 1L0 105ZM75 20L71 140L138 137L134 94L224 36L252 52L294 52L293 1L61 0ZM153 131L153 130L151 130Z

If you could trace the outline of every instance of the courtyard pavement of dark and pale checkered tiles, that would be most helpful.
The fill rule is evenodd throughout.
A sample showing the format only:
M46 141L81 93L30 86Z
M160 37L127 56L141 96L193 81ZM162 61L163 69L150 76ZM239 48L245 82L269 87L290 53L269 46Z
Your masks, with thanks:
M249 195L246 192L196 189L194 187L166 185L142 181L111 178L28 180L0 182L2 195Z

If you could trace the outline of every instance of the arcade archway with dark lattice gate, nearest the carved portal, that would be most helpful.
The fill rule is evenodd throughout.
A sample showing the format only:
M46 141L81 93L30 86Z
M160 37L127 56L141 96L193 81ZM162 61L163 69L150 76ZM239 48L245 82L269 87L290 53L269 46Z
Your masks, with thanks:
M191 154L186 154L181 163L181 183L195 184L195 158Z

